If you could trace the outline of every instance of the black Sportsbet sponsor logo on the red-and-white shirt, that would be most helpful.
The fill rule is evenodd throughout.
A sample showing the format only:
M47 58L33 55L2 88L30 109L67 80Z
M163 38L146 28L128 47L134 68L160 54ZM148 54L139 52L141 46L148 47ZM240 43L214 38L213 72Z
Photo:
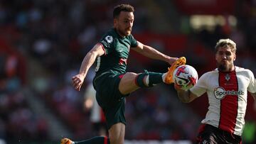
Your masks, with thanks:
M235 90L225 91L223 87L215 88L213 93L216 99L223 99L226 95L238 96L238 95L245 94L245 92L242 92L242 91L235 91Z

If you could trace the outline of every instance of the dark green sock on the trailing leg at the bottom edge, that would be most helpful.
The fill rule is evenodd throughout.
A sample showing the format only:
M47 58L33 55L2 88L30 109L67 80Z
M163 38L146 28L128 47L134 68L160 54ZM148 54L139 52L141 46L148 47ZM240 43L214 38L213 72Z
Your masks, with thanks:
M77 141L75 144L110 144L110 138L105 136L95 136L88 140Z

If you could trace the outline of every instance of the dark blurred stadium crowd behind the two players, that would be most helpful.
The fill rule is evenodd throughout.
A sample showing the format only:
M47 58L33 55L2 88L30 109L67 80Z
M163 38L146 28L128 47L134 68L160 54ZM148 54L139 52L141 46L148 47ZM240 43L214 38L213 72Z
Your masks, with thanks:
M256 75L255 0L0 0L0 143L59 143L95 136L85 109L87 77L76 92L71 77L85 54L112 28L117 4L135 8L132 34L173 57L185 56L199 76L215 68L220 38L237 43L235 65ZM166 72L167 65L131 52L128 71ZM93 69L93 68L92 68ZM256 143L248 96L243 143ZM173 85L139 89L127 98L126 140L193 143L207 96L178 101Z

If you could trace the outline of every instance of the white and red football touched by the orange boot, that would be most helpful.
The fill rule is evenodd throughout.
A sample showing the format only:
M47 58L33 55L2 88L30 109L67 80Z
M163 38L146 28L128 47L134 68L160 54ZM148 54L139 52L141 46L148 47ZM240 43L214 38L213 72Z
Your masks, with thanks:
M176 87L187 90L198 81L198 72L191 65L181 65L174 70L173 80Z

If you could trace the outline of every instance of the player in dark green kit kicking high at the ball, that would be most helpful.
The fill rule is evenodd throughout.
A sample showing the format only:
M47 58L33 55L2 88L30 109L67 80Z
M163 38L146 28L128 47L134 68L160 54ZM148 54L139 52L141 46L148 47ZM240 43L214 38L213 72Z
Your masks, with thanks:
M134 39L131 34L134 23L133 6L129 4L115 6L113 16L114 28L110 29L90 52L87 52L79 74L72 78L73 87L80 91L87 71L97 59L93 84L97 92L97 102L105 113L109 138L97 136L78 142L63 138L61 144L123 144L126 125L125 97L140 87L152 87L160 83L171 84L172 73L176 67L186 63L185 57L169 57ZM130 48L154 60L168 62L171 65L169 71L166 73L145 71L139 74L126 72Z

